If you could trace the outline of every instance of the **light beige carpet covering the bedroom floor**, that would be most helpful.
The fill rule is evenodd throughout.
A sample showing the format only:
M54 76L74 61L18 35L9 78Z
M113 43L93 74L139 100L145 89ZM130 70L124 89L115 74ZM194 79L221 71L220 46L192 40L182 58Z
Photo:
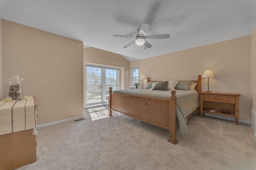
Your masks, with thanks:
M18 170L256 170L250 125L193 115L190 133L169 131L113 112L38 129L37 161Z

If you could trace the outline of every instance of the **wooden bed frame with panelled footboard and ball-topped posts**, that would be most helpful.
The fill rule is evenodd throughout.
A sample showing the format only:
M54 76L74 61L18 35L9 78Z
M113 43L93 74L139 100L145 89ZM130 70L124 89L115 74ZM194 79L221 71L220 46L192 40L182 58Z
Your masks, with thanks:
M198 80L191 81L197 82L195 90L197 90L198 93L201 92L201 75L198 75ZM148 82L150 82L149 78L147 79L147 83ZM168 142L173 144L178 143L176 139L177 98L175 96L175 90L171 91L170 100L112 93L111 87L109 88L108 94L109 116L112 116L112 111L116 111L135 119L145 121L152 125L168 129L170 131L170 138ZM186 119L189 119L196 112L200 113L200 107L196 108L192 113L190 113Z

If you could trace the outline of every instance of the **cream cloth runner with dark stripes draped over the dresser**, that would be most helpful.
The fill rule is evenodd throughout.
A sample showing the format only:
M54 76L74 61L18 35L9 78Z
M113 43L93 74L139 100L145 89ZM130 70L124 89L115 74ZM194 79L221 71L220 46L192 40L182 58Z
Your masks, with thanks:
M35 127L33 96L21 101L0 101L0 135L33 128L36 131Z

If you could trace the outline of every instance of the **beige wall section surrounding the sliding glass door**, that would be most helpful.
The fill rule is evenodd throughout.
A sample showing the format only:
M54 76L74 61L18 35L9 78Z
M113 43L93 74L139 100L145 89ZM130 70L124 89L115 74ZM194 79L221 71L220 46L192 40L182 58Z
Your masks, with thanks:
M90 47L84 49L84 63L100 64L120 68L120 89L129 88L129 61L127 61L121 55Z

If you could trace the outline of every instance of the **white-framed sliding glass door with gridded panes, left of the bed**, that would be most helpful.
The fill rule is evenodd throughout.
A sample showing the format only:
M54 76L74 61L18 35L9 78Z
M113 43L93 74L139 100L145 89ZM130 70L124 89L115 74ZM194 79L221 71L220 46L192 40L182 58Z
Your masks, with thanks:
M108 102L108 90L119 89L119 70L86 64L86 105Z

